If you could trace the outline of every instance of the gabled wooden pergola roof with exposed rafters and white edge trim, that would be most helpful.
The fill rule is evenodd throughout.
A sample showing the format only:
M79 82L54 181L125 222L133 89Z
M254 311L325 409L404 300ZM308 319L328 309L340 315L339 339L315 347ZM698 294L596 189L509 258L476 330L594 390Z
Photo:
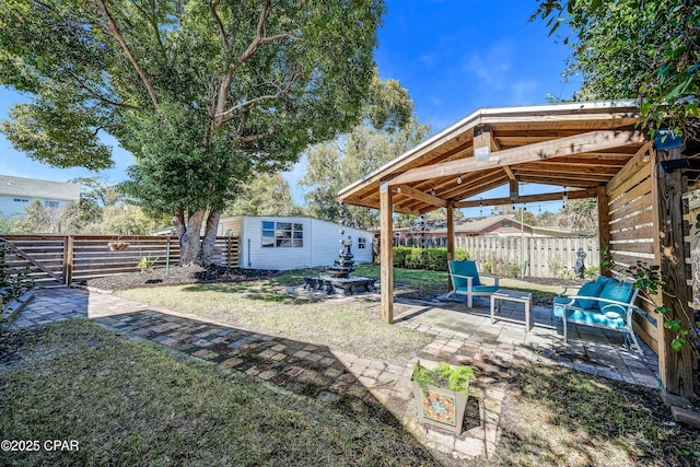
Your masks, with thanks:
M417 215L447 201L478 206L469 198L509 184L516 191L521 182L568 187L570 198L593 196L648 148L632 100L481 108L343 188L338 199L378 209L386 183L395 187L394 211ZM527 198L557 197L561 192ZM516 192L490 203L515 199Z

